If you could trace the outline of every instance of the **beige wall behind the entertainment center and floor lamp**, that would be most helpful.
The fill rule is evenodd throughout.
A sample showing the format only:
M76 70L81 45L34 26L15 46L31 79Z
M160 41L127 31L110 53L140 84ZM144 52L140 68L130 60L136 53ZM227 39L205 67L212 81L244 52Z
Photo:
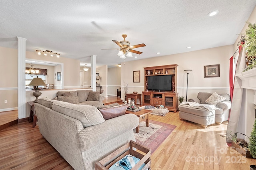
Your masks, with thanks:
M188 76L188 98L196 97L198 92L217 92L229 94L229 58L234 53L234 46L227 45L211 49L192 51L154 57L150 59L136 60L122 64L121 85L128 83L129 93L144 91L144 68L148 66L160 66L178 64L177 92L179 96L186 97L187 74L185 69L193 71ZM220 64L220 77L204 78L204 66ZM133 82L133 71L140 70L140 82ZM122 92L122 98L124 93Z

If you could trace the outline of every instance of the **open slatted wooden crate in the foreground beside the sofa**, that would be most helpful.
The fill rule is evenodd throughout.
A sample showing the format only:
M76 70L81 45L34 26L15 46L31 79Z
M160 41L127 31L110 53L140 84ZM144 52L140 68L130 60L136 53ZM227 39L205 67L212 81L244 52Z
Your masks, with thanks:
M148 147L145 147L134 141L130 141L130 143L125 144L102 160L96 162L95 170L108 170L114 163L128 154L140 159L140 161L131 170L138 170L138 168L140 168L143 163L145 163L146 166L144 166L142 170L150 170L151 150Z

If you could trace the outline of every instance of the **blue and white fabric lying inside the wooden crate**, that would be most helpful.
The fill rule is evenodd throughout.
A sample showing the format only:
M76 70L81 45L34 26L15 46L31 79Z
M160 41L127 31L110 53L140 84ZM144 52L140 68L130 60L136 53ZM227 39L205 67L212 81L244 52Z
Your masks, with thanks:
M135 166L136 163L140 161L139 158L132 156L130 154L124 156L121 160L118 160L115 164L113 164L109 170L130 170ZM141 170L146 164L142 164L138 170Z

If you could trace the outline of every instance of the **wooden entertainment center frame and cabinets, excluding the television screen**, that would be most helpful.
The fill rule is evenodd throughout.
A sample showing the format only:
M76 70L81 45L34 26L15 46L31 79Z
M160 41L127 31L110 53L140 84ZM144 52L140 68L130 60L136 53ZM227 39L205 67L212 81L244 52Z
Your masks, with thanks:
M144 67L145 88L144 92L142 92L142 102L144 105L163 105L169 111L178 111L178 93L176 93L177 67L178 64ZM172 90L148 90L146 85L148 84L148 76L162 75L171 75L174 88Z

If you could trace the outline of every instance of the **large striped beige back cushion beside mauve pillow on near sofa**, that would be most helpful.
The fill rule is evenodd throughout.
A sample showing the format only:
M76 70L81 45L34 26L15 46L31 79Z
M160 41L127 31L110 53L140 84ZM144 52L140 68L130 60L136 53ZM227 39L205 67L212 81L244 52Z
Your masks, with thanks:
M52 109L78 119L81 121L84 128L98 125L105 121L100 111L96 107L90 105L70 104L57 101L52 104Z

